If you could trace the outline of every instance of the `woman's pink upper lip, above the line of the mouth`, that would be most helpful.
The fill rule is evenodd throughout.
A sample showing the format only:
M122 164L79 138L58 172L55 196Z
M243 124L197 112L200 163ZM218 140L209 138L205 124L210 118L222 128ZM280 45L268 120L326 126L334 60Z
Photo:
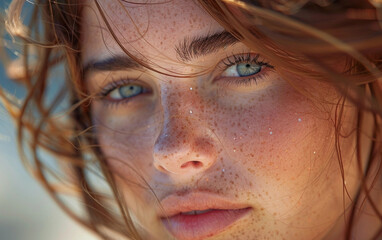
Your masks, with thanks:
M159 209L160 218L168 218L180 213L195 210L233 210L248 208L243 203L234 202L219 194L210 192L188 192L183 194L171 194L165 197L161 202Z

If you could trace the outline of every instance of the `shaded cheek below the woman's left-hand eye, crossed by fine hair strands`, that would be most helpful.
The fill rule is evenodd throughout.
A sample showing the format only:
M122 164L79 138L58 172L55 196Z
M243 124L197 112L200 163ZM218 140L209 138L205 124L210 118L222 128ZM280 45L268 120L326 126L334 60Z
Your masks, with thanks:
M127 180L141 183L152 166L152 148L159 133L161 116L154 105L143 103L146 111L92 105L97 141L112 171ZM149 107L148 107L149 106ZM142 105L133 106L141 108ZM128 176L129 179L126 179Z

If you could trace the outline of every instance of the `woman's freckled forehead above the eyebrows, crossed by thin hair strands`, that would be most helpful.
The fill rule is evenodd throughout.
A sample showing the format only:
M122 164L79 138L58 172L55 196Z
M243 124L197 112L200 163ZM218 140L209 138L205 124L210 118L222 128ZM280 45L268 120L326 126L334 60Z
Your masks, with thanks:
M176 58L175 46L184 38L222 31L223 28L196 2L174 1L98 1L111 29L129 52L145 56ZM83 10L83 58L122 53L102 16L90 1Z

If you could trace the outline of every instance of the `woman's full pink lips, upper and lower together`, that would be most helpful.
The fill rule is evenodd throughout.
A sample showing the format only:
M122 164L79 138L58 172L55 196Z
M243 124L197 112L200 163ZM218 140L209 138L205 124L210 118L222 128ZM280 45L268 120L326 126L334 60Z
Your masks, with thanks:
M161 221L178 240L201 240L214 236L245 217L252 208L207 192L173 194L161 201ZM210 210L198 215L190 211Z

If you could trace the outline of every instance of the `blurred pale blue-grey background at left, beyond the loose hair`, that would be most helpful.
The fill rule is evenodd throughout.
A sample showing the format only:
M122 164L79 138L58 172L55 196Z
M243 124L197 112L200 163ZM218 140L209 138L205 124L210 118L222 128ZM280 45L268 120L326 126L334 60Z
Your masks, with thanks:
M4 11L10 0L0 1ZM0 38L4 43L4 39ZM0 62L0 86L15 95L21 89L7 79ZM27 173L17 153L14 124L0 103L0 239L97 240L67 217Z

